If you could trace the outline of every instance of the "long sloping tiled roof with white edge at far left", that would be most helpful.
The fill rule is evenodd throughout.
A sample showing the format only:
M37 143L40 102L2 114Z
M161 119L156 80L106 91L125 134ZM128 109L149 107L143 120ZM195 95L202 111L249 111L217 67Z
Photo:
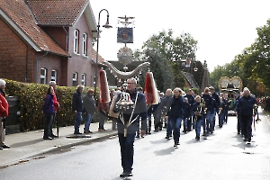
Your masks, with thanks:
M60 56L70 56L34 22L23 0L1 0L0 18L36 51L45 50Z

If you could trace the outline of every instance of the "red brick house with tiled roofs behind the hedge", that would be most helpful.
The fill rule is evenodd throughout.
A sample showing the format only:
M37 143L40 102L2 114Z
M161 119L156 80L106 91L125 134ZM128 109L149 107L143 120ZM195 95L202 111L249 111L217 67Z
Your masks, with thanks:
M89 0L1 0L0 78L93 86L96 36Z

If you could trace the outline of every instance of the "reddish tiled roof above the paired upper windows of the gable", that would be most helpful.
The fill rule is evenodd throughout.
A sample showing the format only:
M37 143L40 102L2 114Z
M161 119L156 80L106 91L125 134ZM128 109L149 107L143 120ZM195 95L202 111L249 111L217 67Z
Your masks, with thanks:
M85 14L88 27L96 37L97 27L89 0L27 0L41 26L74 26Z

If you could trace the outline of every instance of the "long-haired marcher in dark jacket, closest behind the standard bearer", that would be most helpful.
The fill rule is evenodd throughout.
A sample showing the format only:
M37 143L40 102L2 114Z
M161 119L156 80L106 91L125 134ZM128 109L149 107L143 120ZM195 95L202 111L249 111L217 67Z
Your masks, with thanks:
M167 118L170 121L172 130L174 131L174 140L175 145L180 145L179 138L180 138L180 128L181 128L181 121L184 118L183 107L184 107L184 98L182 97L184 92L179 87L176 87L174 90L174 96L171 97L171 104L170 109L167 112Z

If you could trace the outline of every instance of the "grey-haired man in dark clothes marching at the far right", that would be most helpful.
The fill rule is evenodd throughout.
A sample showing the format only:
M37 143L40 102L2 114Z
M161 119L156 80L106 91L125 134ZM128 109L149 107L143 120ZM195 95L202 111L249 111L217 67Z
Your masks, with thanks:
M254 105L257 104L255 98L250 96L249 89L247 87L243 90L242 97L239 98L236 107L236 115L241 116L242 121L242 134L244 135L244 141L251 141L251 125ZM238 112L240 114L238 114Z

